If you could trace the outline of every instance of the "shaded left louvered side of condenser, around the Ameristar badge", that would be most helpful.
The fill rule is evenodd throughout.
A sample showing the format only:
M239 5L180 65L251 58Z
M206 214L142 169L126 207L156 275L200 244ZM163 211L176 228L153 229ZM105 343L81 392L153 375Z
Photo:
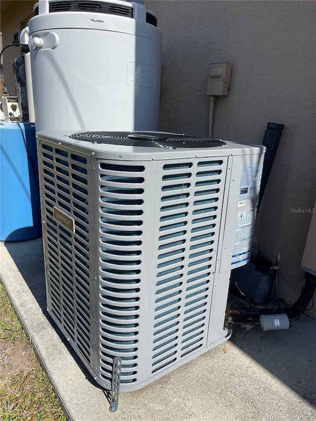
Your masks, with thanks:
M41 145L42 212L46 225L48 306L90 363L90 223L87 160ZM75 220L75 232L54 218L54 207Z

